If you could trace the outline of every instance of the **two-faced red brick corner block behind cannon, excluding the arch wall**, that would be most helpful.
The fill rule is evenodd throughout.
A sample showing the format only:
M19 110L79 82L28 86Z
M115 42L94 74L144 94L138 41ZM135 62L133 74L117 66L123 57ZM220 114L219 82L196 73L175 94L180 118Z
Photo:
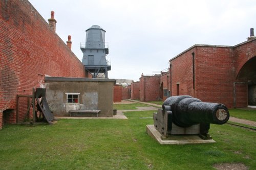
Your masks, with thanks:
M193 84L193 55L195 91ZM197 46L170 62L172 95L191 95L203 102L232 106L233 55L230 47Z

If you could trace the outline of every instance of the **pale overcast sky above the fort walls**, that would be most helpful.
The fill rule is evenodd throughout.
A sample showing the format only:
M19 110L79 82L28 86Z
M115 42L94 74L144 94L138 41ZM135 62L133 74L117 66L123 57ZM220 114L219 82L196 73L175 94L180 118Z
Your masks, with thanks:
M139 80L169 66L168 60L194 44L236 45L256 33L256 2L151 0L29 0L48 22L55 12L56 33L82 60L80 42L98 25L109 42L111 79Z

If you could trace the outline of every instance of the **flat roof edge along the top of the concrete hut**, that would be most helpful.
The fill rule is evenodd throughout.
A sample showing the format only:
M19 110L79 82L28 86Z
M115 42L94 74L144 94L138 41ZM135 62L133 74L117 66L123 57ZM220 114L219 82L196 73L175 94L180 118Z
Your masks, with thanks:
M93 78L74 78L74 77L45 77L46 82L113 82L115 79L93 79Z

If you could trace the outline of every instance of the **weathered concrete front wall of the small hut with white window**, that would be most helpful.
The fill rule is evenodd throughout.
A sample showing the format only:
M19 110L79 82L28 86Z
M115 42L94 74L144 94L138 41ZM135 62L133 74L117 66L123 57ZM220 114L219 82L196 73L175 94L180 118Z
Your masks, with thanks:
M101 110L99 116L113 116L112 79L46 78L46 97L55 116L69 116L69 110ZM67 102L67 94L77 93L78 103Z

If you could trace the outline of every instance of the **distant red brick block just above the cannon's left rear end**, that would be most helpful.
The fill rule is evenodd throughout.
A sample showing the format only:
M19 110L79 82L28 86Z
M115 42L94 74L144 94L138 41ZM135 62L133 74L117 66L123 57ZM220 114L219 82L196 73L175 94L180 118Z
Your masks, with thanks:
M160 76L143 76L140 78L140 101L160 100Z

